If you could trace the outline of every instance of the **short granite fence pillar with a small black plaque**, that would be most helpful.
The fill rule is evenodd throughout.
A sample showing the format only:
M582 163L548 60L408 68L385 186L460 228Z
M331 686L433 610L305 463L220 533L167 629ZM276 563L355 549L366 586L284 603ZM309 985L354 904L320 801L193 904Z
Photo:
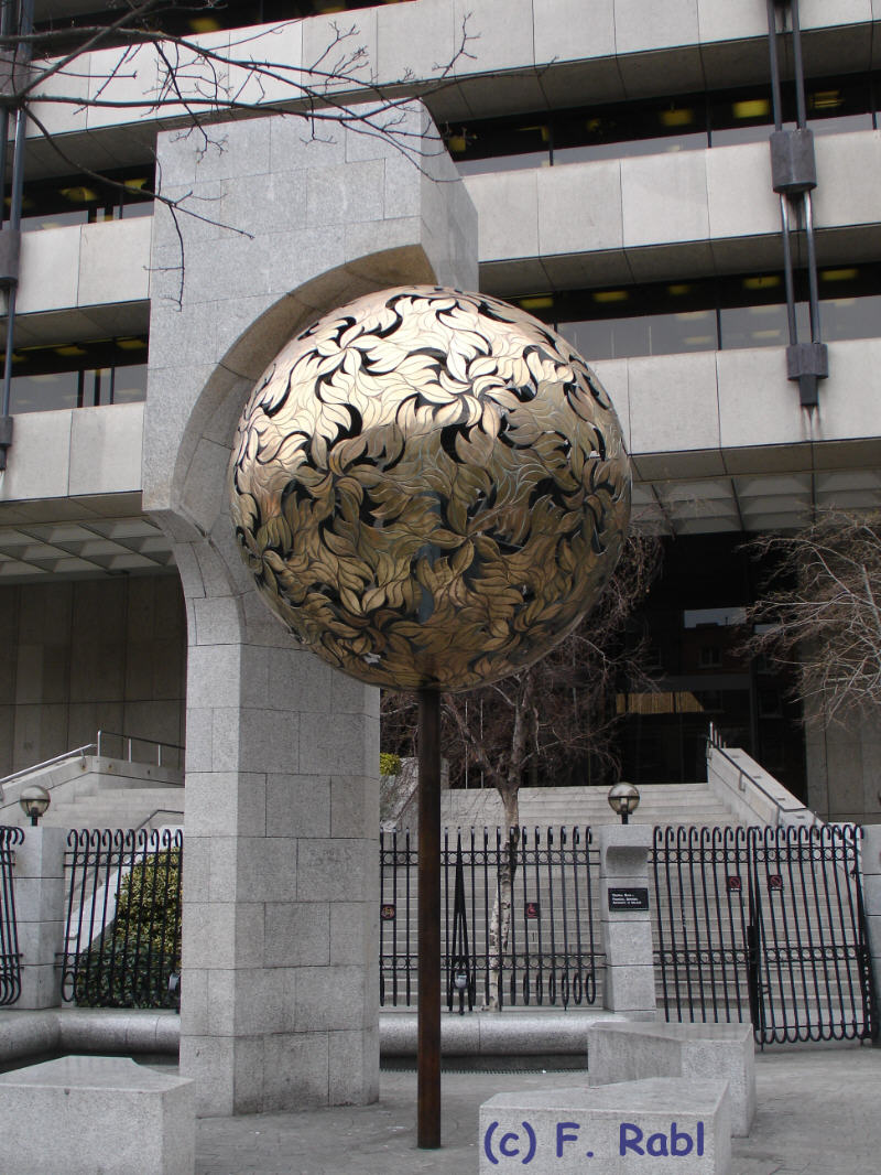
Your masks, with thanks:
M606 953L604 1007L635 1019L654 1019L654 955L648 825L601 825L594 835L600 853L600 916Z

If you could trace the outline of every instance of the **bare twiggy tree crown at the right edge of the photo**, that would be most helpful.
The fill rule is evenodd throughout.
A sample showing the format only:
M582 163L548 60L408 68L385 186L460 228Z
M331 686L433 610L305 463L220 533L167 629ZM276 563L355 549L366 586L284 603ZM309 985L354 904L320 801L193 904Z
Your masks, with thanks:
M881 513L829 511L793 535L749 544L773 570L747 612L746 651L796 673L806 718L846 721L881 707Z

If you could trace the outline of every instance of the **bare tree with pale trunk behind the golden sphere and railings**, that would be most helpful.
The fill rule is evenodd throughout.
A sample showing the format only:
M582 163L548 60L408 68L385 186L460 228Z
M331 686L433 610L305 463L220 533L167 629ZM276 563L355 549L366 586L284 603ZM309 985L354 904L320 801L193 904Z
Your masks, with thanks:
M614 575L579 627L532 667L495 685L444 694L442 746L450 778L478 772L504 808L507 852L499 862L489 927L490 1007L499 1007L499 961L507 951L520 838L519 790L530 779L597 781L618 770L621 723L617 694L652 690L647 642L631 631L633 613L660 569L660 540L631 531ZM416 709L408 694L383 697L384 741L412 741ZM573 770L574 768L574 770Z

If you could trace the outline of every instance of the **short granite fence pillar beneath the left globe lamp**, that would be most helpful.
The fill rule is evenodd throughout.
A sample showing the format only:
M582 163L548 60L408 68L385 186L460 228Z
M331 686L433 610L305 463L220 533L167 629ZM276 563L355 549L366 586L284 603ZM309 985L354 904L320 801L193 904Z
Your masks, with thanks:
M15 914L21 952L16 1008L61 1003L59 954L65 945L65 828L27 827L15 847Z

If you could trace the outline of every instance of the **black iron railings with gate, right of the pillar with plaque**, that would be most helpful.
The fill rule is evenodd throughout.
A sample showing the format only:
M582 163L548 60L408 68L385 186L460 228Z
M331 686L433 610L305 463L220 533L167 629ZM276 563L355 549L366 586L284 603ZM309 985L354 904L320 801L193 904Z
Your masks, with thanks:
M761 1045L874 1038L856 826L655 828L668 1020L751 1021Z

